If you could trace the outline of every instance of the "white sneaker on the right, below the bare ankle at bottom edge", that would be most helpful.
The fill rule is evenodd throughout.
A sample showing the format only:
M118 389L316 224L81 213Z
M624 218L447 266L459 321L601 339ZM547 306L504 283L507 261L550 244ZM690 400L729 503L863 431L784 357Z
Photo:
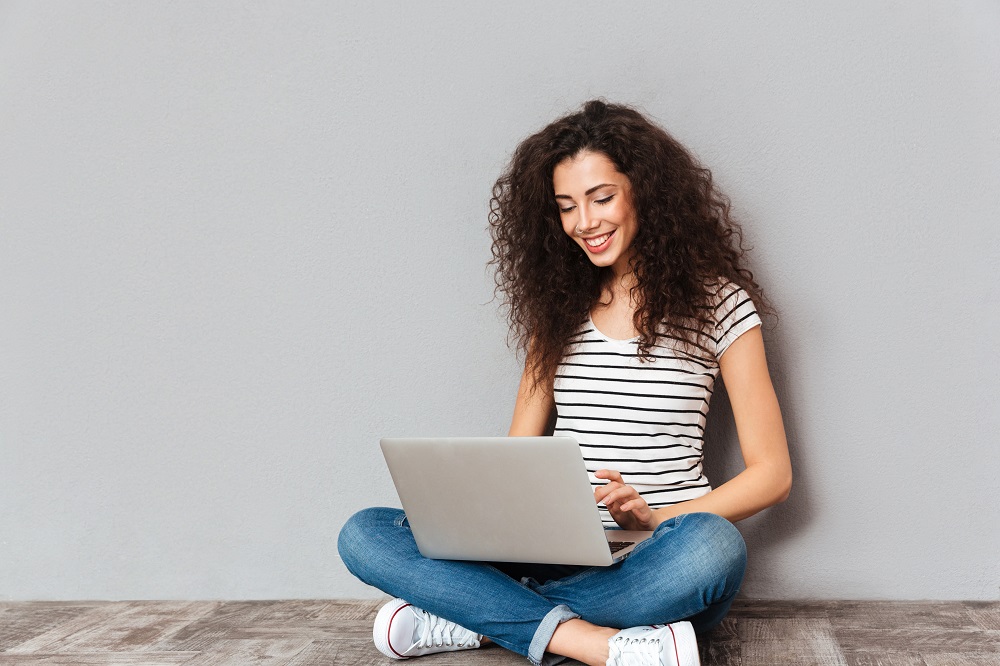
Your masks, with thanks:
M622 629L608 639L607 666L699 666L690 622Z

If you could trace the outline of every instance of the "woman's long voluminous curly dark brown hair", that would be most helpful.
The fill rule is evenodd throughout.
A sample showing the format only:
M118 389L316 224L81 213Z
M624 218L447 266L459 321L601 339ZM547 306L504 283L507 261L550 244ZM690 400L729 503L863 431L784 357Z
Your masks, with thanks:
M746 290L761 314L774 314L744 265L742 230L711 172L635 109L592 100L522 141L490 200L490 265L511 336L531 361L536 386L555 375L569 338L613 276L610 267L590 262L560 221L553 170L584 151L607 156L632 186L641 358L648 360L663 338L703 356L714 325L709 303L720 280Z

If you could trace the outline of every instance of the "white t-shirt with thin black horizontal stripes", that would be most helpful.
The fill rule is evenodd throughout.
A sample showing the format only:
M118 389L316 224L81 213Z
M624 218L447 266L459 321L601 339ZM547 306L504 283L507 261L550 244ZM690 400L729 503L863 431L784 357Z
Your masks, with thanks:
M753 301L732 282L718 289L711 305L711 354L692 355L676 340L660 338L653 361L642 362L638 338L608 338L590 318L571 338L553 386L553 434L580 443L595 487L607 481L594 472L616 469L654 509L712 489L702 472L702 444L719 358L761 321ZM605 525L614 525L608 510L599 508Z

